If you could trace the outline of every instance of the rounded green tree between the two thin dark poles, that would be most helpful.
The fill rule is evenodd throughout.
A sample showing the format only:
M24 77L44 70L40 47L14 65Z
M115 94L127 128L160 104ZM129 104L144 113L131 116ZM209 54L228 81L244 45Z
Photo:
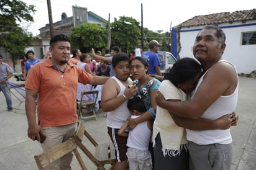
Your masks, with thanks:
M121 48L123 52L134 50L140 40L140 25L132 17L119 17L111 23L111 46Z

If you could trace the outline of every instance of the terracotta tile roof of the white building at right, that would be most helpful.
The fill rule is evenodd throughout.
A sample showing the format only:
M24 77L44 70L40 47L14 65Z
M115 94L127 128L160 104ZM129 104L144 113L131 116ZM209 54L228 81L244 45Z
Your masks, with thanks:
M182 22L176 27L192 27L199 25L222 24L227 22L232 24L232 22L237 21L244 23L247 20L256 20L256 9L195 16L185 22Z

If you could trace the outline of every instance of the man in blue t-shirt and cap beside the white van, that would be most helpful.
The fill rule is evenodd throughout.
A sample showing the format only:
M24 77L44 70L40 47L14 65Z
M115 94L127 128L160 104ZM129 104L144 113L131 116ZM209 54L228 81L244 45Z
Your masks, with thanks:
M152 40L149 42L149 51L142 55L142 57L145 58L149 64L149 74L157 74L158 76L162 76L160 71L161 64L157 54L160 46L162 46L161 43L158 43L157 40Z

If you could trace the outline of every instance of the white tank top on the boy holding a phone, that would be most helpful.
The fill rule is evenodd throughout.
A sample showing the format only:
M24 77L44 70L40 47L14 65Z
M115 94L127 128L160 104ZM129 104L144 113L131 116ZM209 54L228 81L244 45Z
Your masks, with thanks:
M117 84L120 86L120 92L117 97L122 96L124 94L124 90L126 87L124 84L116 78L116 76L111 77L116 81ZM132 80L129 78L127 79L129 84L132 84ZM127 100L123 102L116 110L112 110L111 112L107 112L107 127L111 128L121 128L124 122L130 117L130 112L127 109Z

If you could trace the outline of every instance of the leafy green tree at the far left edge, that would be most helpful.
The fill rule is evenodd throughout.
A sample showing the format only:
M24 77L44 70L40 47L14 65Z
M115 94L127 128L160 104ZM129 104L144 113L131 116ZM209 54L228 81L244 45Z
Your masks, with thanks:
M20 23L34 21L34 7L19 0L0 1L0 46L10 53L14 65L32 40L32 34L25 32Z

